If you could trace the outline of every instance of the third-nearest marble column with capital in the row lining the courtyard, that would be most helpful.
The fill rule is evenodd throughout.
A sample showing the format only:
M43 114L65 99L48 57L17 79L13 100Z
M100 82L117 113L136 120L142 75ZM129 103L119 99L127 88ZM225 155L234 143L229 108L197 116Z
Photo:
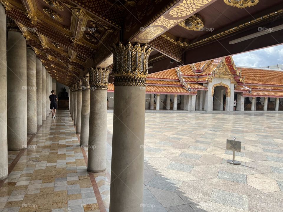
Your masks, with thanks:
M90 105L89 77L82 77L82 115L80 125L80 145L88 145L89 105Z

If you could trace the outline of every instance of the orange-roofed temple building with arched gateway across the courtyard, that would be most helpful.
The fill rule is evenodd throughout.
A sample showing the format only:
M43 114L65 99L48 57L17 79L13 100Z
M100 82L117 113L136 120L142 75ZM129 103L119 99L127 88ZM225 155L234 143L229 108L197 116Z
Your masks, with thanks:
M167 110L282 110L281 70L236 67L223 57L149 74L146 108ZM113 83L108 100L113 105Z

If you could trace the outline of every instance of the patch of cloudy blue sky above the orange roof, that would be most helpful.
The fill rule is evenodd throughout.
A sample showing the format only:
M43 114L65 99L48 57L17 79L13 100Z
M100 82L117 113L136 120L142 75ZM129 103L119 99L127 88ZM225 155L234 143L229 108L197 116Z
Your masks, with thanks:
M233 56L237 66L264 67L283 63L283 45Z

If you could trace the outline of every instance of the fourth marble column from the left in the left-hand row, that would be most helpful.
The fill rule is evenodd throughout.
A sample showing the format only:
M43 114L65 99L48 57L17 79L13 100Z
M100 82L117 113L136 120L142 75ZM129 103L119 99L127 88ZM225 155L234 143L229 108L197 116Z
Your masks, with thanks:
M36 124L42 125L42 62L36 59Z

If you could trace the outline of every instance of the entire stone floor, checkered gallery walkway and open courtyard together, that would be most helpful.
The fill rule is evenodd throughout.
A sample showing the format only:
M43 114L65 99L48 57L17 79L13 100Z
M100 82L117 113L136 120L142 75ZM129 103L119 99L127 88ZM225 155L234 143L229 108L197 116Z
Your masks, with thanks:
M145 212L283 210L283 113L147 112L145 118ZM112 111L107 119L107 170L93 174L68 111L47 117L27 150L9 152L0 212L109 211ZM226 163L232 158L226 139L234 136L242 141L241 165Z

